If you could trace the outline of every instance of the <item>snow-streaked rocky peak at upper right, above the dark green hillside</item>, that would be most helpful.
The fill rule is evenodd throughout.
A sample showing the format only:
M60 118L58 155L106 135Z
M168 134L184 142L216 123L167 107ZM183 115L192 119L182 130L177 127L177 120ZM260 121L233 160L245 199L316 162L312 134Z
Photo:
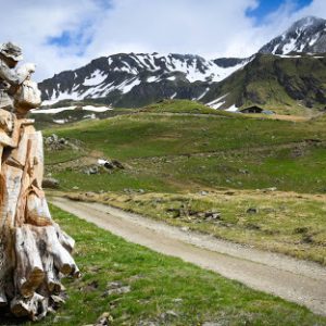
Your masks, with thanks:
M314 16L304 17L261 48L259 52L272 54L325 53L326 20Z

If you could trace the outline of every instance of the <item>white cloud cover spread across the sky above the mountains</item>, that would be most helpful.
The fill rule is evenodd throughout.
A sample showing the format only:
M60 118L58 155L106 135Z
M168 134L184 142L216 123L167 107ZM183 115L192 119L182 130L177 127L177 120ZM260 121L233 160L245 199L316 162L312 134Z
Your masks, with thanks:
M326 16L325 0L300 11L293 1L255 25L246 12L259 0L0 0L0 39L23 47L25 59L38 65L37 79L116 52L247 57L296 20ZM49 43L64 32L76 41Z

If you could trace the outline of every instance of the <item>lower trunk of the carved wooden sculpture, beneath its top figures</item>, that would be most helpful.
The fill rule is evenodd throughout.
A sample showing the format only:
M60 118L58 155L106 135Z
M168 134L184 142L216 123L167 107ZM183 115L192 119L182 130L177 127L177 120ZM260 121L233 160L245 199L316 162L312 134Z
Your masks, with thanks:
M51 218L42 136L32 120L14 117L11 134L0 129L0 306L40 319L62 301L60 279L79 277L74 240Z

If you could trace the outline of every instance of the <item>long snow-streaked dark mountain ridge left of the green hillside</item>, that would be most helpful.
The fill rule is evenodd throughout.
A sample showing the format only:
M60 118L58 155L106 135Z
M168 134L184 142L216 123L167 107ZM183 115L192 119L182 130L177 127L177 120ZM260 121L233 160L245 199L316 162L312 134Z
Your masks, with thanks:
M39 84L43 104L60 100L105 98L114 105L135 105L160 98L200 100L212 83L243 67L248 59L205 60L199 55L120 53L91 61Z

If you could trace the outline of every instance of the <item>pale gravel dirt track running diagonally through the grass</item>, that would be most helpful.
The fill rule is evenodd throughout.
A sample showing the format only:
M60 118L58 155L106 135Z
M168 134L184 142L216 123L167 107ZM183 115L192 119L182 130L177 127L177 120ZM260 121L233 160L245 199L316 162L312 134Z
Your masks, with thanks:
M178 256L326 315L326 268L317 264L189 233L99 203L64 198L50 201L128 241Z

